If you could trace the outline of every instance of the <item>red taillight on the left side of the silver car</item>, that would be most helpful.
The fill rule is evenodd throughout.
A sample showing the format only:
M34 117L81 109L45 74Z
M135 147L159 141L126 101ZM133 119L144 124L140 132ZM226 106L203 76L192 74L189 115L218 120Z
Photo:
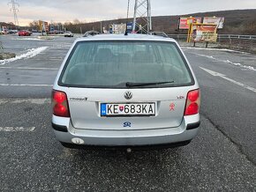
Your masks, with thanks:
M67 95L65 92L52 91L53 114L61 117L70 117Z

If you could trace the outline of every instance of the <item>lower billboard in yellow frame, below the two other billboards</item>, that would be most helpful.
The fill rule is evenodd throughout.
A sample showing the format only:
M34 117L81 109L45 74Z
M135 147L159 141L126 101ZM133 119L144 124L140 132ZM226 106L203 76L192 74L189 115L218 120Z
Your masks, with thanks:
M192 24L190 38L194 42L216 42L216 32L216 25Z

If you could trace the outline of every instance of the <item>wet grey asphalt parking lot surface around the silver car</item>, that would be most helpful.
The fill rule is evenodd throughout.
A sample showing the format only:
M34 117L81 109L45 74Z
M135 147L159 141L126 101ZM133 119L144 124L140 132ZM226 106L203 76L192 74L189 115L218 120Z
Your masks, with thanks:
M200 134L175 149L68 150L50 126L51 85L74 38L0 36L31 58L0 63L1 191L256 191L256 55L183 48L200 83Z

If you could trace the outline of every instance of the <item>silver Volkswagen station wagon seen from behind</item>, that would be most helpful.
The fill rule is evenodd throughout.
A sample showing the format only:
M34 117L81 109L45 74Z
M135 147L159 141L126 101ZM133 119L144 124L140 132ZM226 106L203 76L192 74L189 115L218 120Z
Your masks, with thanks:
M66 147L189 144L200 88L177 41L147 34L80 38L52 92L52 127Z

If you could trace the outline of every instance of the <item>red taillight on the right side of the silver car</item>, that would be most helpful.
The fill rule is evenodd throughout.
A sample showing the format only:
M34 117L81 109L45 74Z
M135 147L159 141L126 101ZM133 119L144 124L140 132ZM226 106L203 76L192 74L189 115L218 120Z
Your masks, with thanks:
M187 93L184 115L200 113L200 90L193 90Z

